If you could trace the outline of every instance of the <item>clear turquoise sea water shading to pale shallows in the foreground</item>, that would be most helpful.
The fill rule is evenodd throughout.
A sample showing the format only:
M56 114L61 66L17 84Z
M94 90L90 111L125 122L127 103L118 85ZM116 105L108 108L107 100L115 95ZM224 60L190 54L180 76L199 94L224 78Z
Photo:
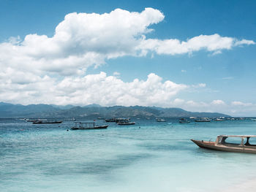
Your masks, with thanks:
M256 155L201 149L190 139L256 134L256 121L134 120L67 131L70 121L0 119L0 191L255 191Z

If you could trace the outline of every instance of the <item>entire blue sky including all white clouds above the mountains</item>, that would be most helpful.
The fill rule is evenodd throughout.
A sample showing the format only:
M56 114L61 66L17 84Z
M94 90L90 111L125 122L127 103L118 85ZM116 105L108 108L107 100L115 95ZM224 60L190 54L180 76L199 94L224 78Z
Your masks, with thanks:
M0 101L256 116L256 1L0 0Z

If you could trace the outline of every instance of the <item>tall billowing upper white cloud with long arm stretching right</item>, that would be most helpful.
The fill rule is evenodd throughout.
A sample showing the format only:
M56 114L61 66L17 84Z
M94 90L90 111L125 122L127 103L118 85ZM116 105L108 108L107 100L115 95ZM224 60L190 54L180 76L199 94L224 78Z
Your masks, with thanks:
M115 9L110 13L69 13L56 26L53 37L28 34L0 44L1 69L10 67L34 74L80 75L89 66L105 64L124 55L184 54L198 50L217 53L255 44L252 40L200 35L188 39L146 39L151 25L165 18L157 9L142 12Z

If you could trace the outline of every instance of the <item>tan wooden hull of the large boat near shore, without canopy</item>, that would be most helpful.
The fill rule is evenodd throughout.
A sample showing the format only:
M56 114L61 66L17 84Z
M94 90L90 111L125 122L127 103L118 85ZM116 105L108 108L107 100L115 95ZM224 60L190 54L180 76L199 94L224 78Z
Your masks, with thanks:
M232 146L232 145L215 145L215 142L204 142L199 140L191 139L197 146L210 149L210 150L220 150L225 152L232 153L255 153L256 154L256 146Z

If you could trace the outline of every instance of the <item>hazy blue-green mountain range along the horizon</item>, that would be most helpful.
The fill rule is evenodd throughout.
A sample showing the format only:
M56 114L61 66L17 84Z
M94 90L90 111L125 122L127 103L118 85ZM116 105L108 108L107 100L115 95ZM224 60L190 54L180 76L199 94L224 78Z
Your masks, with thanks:
M49 104L8 104L0 102L0 117L20 118L110 118L110 117L136 117L136 118L181 118L181 117L229 117L219 112L189 112L181 108L162 107L101 107L98 104L90 104L85 107L72 105L59 106Z

